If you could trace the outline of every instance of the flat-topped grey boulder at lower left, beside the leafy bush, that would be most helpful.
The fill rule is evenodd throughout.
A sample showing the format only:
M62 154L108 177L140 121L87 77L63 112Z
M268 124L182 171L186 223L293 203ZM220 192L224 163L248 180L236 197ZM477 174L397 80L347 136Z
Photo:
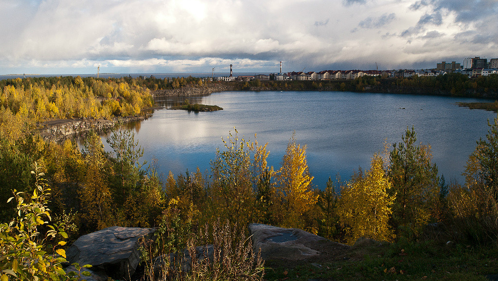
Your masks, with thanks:
M140 262L140 238L150 239L155 229L109 227L81 236L66 251L67 260L114 279L129 280Z

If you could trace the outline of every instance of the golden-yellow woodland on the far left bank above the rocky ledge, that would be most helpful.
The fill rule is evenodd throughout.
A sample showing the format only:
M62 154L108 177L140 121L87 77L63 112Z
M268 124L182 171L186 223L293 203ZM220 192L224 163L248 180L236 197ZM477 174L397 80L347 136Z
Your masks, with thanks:
M123 78L17 78L0 81L0 89L0 108L17 120L129 116L153 104L148 89Z

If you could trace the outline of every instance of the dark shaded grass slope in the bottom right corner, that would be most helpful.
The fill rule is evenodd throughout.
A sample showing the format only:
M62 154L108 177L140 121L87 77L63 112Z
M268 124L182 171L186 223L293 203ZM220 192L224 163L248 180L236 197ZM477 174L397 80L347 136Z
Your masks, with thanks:
M282 266L266 261L268 281L445 280L485 281L498 274L498 249L419 242L353 248L342 260Z

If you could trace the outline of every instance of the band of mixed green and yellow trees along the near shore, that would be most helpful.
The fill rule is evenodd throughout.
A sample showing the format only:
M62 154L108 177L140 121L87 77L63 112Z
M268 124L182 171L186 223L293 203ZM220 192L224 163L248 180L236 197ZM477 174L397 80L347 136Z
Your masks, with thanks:
M368 169L351 179L329 179L315 187L306 145L291 136L280 167L268 166L269 151L237 130L223 138L211 171L158 175L157 160L140 162L143 149L129 129L107 139L90 134L84 148L67 140L45 143L26 134L0 140L2 218L14 216L11 190L33 192L31 165L38 163L52 192L54 220L76 238L109 226L164 227L171 243L184 246L200 226L228 221L235 234L250 223L300 228L353 244L360 237L381 241L415 239L431 223L458 228L462 239L486 243L498 236L496 151L498 121L469 156L463 185L446 183L432 163L430 146L417 142L414 128L401 141L372 156ZM26 198L25 200L29 200Z

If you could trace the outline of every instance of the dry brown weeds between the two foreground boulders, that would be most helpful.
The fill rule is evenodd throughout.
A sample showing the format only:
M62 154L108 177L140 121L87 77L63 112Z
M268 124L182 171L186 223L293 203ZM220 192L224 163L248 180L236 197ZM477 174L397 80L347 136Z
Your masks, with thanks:
M204 246L196 247L201 241ZM230 225L219 221L191 235L183 251L163 252L148 259L145 268L144 279L149 281L262 281L264 275L264 262L253 252L250 238L234 237Z

